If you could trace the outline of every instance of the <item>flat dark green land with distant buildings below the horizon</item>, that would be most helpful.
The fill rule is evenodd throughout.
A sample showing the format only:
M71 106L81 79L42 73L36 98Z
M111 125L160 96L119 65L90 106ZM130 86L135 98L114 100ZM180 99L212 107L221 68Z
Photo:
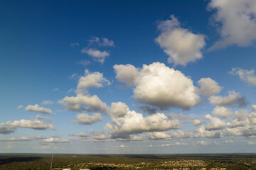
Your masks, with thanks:
M52 154L0 154L1 170L50 169ZM53 169L256 169L256 154L54 154Z

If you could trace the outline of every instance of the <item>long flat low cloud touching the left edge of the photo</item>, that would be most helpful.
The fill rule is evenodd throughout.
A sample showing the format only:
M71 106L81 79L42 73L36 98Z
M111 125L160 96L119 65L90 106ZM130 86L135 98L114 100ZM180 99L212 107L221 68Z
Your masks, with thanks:
M40 115L37 115L33 120L14 120L7 121L6 123L0 124L0 133L1 134L10 134L14 132L16 128L30 128L34 130L46 130L51 129L55 130L53 124L50 123L48 118L44 118Z

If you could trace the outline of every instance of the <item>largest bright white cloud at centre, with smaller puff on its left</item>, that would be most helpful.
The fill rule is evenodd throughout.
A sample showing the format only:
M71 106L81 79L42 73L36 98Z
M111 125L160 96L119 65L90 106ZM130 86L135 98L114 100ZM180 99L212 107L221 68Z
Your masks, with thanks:
M115 65L114 68L118 80L122 76L127 76L128 73L119 72L127 68L127 65ZM143 68L132 76L131 81L134 84L133 97L139 103L156 106L161 110L170 107L188 110L201 102L196 94L196 87L189 77L159 62L144 64Z

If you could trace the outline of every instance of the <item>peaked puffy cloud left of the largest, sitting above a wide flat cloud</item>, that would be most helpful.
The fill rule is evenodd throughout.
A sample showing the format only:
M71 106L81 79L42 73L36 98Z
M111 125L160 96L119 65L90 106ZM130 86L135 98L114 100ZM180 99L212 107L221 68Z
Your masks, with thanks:
M103 77L100 72L90 73L89 70L85 70L85 75L80 77L78 81L78 91L82 89L89 89L92 87L100 88L104 85L110 85L110 81Z

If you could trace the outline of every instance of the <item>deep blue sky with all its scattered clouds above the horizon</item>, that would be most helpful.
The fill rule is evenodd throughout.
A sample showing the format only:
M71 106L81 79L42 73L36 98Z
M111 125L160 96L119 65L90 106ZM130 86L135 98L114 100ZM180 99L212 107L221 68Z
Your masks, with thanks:
M1 152L255 152L255 6L0 1Z

